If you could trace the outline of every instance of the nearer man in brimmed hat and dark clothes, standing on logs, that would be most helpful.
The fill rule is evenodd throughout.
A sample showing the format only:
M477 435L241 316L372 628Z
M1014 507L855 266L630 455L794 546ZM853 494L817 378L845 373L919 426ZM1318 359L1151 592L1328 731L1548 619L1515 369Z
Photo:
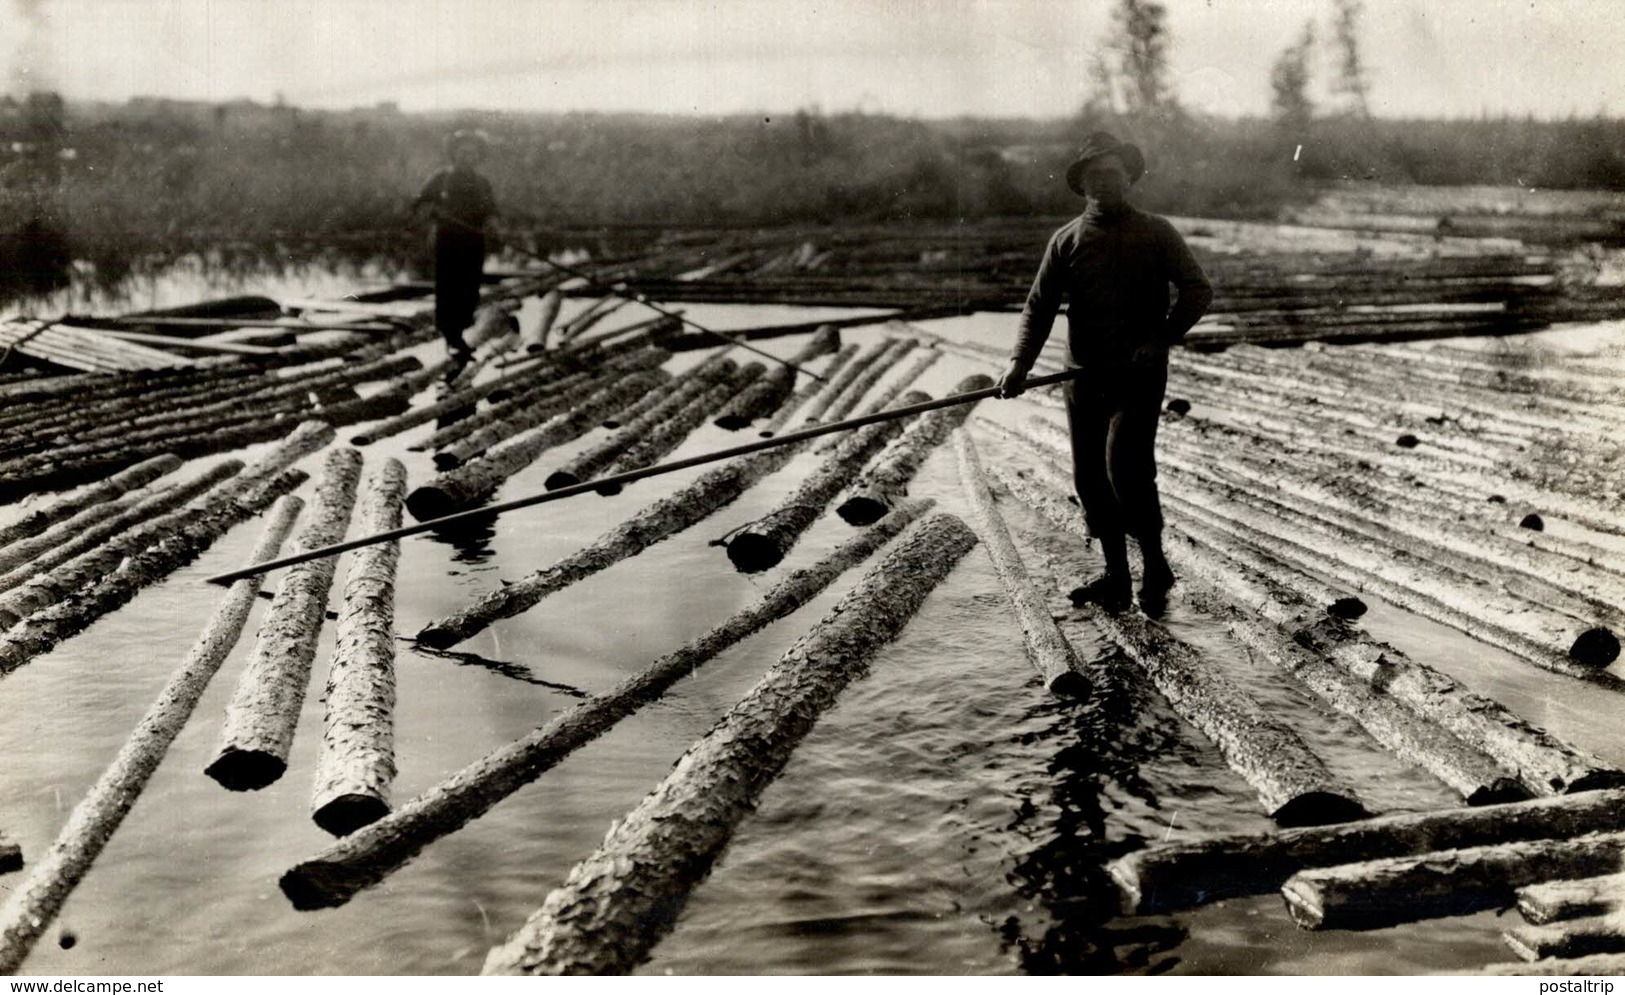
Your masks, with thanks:
M1168 348L1212 302L1212 286L1173 226L1129 205L1146 156L1108 132L1084 140L1066 185L1084 213L1050 237L1027 294L999 397L1022 392L1038 350L1068 301L1066 384L1072 476L1105 572L1072 590L1074 603L1123 611L1131 600L1126 537L1144 559L1141 605L1162 610L1173 571L1162 553L1157 498L1157 419L1168 382ZM1178 293L1170 309L1168 285Z

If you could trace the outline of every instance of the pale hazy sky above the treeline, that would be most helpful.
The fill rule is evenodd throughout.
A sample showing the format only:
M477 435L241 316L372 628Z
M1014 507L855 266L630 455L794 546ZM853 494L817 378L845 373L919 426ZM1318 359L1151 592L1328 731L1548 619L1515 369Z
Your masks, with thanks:
M0 0L13 94L1064 117L1112 0ZM1180 99L1264 114L1331 0L1165 0ZM1625 0L1365 0L1372 111L1625 115ZM1316 50L1318 91L1332 60Z

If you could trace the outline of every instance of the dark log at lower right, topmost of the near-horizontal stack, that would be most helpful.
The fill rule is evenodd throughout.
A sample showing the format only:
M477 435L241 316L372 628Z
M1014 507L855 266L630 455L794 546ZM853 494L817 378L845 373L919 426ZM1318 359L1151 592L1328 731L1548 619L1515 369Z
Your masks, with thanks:
M1618 831L1625 831L1625 790L1599 790L1562 798L1378 816L1342 826L1160 844L1120 857L1107 870L1123 891L1124 910L1150 915L1225 897L1264 894L1310 868ZM1596 873L1612 870L1615 868Z

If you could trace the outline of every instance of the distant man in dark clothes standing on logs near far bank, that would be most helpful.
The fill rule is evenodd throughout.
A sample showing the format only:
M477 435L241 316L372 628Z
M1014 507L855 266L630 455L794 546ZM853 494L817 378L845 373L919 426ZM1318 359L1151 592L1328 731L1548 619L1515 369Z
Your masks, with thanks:
M450 166L431 176L413 200L413 210L427 208L434 221L434 325L450 356L465 363L471 350L463 328L474 324L486 267L484 229L497 213L491 180L476 171L489 148L484 132L452 132L445 140Z

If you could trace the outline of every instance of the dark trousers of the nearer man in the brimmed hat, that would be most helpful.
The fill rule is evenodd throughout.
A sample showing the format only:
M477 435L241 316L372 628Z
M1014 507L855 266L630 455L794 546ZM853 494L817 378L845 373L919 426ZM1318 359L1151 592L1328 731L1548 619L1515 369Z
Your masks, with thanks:
M1165 364L1092 371L1066 384L1077 501L1108 564L1124 535L1142 548L1162 540L1155 447L1167 385Z

